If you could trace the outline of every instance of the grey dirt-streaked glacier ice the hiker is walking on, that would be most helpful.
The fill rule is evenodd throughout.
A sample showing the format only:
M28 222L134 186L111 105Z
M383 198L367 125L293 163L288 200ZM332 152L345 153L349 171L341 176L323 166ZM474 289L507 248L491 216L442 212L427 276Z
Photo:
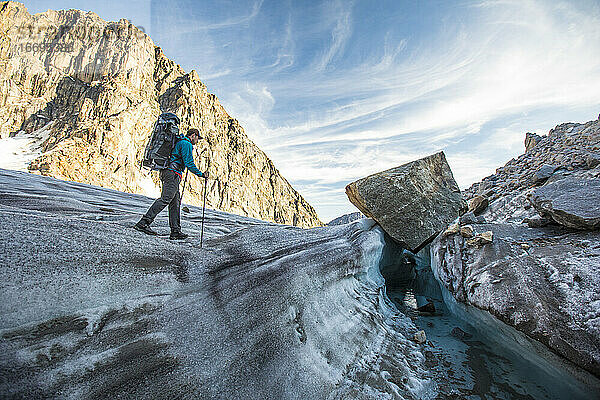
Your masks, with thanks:
M152 201L0 169L1 398L435 397L372 220L209 209L201 248L197 207L186 241L131 229Z

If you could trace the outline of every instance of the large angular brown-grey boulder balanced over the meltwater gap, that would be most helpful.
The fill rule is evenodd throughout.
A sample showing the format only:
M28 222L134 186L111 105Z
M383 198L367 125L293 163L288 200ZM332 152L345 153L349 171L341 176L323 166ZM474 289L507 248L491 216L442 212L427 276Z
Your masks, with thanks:
M466 208L443 152L352 182L346 194L415 253Z

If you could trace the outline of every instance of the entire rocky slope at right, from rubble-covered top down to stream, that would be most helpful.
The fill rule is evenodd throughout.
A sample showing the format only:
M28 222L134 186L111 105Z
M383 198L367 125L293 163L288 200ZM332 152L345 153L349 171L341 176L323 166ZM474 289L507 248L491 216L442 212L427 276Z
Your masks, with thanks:
M528 138L525 154L465 191L492 201L432 242L432 269L457 300L600 376L600 167L589 161L600 121ZM466 224L479 234L458 234Z

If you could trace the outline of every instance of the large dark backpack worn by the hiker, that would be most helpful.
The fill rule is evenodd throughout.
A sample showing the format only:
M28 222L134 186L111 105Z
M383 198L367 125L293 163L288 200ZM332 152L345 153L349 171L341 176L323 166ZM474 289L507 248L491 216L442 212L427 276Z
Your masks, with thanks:
M154 170L169 166L171 151L179 139L179 122L179 117L173 113L158 117L144 151L142 167Z

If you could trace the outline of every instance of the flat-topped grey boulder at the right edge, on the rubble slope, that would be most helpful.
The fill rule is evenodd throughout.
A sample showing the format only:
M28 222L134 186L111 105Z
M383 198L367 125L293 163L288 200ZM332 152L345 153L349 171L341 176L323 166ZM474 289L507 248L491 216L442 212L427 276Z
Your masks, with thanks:
M536 189L533 206L574 229L600 229L600 178L567 176Z

